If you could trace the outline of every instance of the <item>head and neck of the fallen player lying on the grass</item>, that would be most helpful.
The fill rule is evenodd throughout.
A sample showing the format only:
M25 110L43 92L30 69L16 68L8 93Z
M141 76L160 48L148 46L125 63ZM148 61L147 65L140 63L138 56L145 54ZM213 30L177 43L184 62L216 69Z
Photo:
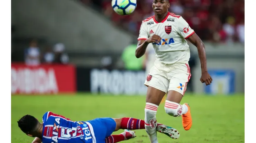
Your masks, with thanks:
M38 134L43 127L42 124L31 115L25 115L17 122L20 130L32 137L38 137Z

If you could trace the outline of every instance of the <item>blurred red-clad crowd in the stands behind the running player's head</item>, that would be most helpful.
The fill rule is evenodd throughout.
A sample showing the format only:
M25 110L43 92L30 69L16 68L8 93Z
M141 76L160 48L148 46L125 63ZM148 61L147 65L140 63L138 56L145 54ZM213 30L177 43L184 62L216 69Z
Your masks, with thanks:
M141 21L154 15L153 0L137 0L131 15L121 16L112 10L111 0L81 0L101 10L114 24L138 35ZM169 0L170 12L189 23L202 40L233 43L245 41L244 0Z

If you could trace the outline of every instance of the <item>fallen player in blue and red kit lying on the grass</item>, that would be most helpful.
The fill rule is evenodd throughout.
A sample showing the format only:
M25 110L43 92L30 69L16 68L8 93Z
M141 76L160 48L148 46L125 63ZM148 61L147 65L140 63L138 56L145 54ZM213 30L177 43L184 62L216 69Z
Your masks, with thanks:
M172 139L179 138L180 133L176 129L153 122L151 124L156 124L158 132ZM131 130L145 129L145 122L135 118L72 121L62 115L46 112L43 123L31 115L25 115L18 121L18 126L25 134L35 137L32 143L117 143L136 137ZM111 135L119 129L125 131L119 135Z

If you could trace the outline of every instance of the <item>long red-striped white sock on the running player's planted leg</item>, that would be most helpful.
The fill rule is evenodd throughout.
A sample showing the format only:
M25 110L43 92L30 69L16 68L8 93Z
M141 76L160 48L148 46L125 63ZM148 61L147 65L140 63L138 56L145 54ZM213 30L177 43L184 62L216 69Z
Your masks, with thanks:
M150 143L158 143L156 135L156 104L146 102L145 107L145 129L149 136Z

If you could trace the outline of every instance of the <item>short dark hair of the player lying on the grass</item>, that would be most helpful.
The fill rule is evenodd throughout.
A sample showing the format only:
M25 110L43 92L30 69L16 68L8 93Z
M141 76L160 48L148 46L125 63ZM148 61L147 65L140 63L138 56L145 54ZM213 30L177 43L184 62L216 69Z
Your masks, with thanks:
M31 115L25 115L22 118L20 118L17 122L21 131L26 134L33 131L39 123L38 120Z

